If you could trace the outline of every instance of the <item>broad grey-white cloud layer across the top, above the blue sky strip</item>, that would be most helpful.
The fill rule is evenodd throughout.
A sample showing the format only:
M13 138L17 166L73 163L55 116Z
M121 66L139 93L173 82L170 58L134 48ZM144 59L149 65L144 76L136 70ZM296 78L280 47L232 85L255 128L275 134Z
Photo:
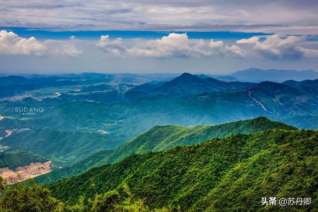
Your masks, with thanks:
M318 34L317 0L0 0L0 26ZM171 21L173 20L173 21Z

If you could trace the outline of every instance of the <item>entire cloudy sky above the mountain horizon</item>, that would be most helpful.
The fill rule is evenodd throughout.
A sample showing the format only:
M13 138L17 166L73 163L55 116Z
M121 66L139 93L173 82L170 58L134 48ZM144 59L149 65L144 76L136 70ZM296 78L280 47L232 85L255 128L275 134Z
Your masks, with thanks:
M317 0L0 0L0 72L318 71Z

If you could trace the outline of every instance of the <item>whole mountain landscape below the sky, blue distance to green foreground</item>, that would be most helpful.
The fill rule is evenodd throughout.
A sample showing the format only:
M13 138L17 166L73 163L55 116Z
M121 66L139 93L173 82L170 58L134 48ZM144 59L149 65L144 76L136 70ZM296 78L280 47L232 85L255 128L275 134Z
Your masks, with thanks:
M303 73L312 72L295 74ZM60 211L119 199L145 211L270 211L259 204L268 195L310 197L313 205L296 209L315 209L318 81L239 77L0 77L1 170L25 170L22 180L51 191L0 178L0 209L32 192Z

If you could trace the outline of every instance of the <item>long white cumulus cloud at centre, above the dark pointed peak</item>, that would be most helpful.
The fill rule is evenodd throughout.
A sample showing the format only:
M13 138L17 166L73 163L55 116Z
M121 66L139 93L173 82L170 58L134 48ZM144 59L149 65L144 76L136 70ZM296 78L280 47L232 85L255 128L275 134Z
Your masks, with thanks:
M230 54L242 57L243 54L238 46L224 46L223 41L213 39L189 39L186 33L170 33L156 40L142 40L132 47L127 47L122 39L111 40L108 35L101 36L97 46L117 56L137 56L152 58L169 57L212 57L215 55L228 56Z

